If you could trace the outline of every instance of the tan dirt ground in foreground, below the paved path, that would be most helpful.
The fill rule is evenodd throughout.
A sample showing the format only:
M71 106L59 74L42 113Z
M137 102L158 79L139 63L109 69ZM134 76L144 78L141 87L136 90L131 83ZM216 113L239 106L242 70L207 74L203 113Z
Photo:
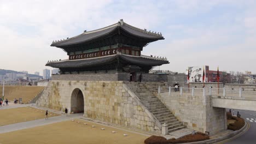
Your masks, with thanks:
M77 123L77 122L80 123ZM86 123L87 125L84 125ZM95 125L95 128L92 127ZM105 130L101 130L105 128ZM112 133L116 131L117 133ZM128 136L124 136L127 134ZM16 137L16 139L14 139ZM95 124L83 120L59 122L43 125L30 129L12 131L0 134L0 142L3 144L13 143L138 143L143 144L147 136L129 133L127 131Z

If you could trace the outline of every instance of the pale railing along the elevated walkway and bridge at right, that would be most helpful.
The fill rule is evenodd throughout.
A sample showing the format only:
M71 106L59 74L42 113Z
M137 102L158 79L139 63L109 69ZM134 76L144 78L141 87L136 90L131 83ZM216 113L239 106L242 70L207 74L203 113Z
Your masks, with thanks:
M214 95L222 97L256 97L255 89L243 89L243 88L184 88L184 87L167 87L158 86L158 93L176 93L180 95Z

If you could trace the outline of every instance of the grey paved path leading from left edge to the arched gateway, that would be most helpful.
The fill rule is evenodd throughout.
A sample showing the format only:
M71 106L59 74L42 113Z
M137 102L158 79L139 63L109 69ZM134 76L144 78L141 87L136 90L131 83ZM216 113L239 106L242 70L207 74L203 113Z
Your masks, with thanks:
M68 121L68 120L79 118L79 117L83 117L83 113L75 113L75 114L69 115L67 117L65 115L61 115L61 116L56 116L56 117L50 117L49 119L46 119L46 120L43 118L43 119L37 119L34 121L4 125L4 126L0 127L0 134L7 133L10 131L38 127L40 125Z

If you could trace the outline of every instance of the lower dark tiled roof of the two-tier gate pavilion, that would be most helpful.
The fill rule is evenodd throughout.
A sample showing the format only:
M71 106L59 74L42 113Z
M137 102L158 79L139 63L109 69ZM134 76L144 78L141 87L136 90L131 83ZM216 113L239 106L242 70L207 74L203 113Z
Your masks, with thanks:
M46 66L54 68L82 68L116 62L117 60L122 62L128 62L135 65L144 65L151 67L169 63L167 59L116 54L97 58L49 62L46 64Z

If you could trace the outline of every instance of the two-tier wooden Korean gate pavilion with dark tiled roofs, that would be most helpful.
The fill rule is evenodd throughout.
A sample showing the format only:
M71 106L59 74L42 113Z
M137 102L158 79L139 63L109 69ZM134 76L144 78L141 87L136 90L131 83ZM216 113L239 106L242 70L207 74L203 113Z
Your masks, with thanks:
M155 66L169 63L164 57L141 54L143 47L162 39L161 33L148 32L120 20L108 27L53 41L51 46L66 51L68 59L48 62L46 66L59 68L61 74L115 73L118 78L113 80L137 81L139 75L148 74ZM113 77L101 78L111 80ZM143 78L149 81L147 75L143 75Z

